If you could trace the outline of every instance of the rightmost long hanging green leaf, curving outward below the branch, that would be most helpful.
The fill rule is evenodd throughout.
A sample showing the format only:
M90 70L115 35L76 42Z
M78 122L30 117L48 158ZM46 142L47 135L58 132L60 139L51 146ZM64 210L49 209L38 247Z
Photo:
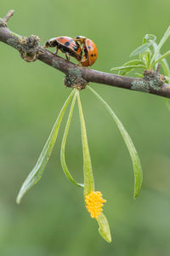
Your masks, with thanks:
M116 117L116 114L113 112L111 107L107 104L107 102L104 101L104 99L99 96L99 94L92 89L89 85L87 86L88 89L90 89L95 96L99 99L100 102L102 102L105 106L105 108L109 111L111 114L111 117L115 120L116 125L119 129L119 131L122 134L122 138L124 139L124 142L127 145L127 149L129 151L129 154L131 156L132 162L133 162L133 173L134 173L134 198L136 198L139 195L139 191L141 189L142 181L143 181L143 174L142 174L142 167L139 160L139 155L136 151L136 148L133 145L132 139L129 137L127 131L125 130L124 126L122 125L121 121Z

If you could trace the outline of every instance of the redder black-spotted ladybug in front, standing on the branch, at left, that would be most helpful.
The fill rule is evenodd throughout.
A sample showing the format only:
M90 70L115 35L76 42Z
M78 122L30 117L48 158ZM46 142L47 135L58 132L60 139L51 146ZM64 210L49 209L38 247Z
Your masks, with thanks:
M59 37L49 39L44 48L56 47L54 55L58 54L58 51L65 53L66 59L70 61L70 56L77 59L77 61L82 60L82 49L77 41L70 37Z

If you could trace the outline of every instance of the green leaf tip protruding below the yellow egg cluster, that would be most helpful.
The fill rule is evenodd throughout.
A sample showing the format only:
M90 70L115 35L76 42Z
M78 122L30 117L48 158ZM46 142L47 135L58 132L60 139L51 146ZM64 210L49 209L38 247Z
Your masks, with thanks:
M99 224L99 234L105 239L105 241L111 242L111 231L109 223L103 212L99 214L97 221Z

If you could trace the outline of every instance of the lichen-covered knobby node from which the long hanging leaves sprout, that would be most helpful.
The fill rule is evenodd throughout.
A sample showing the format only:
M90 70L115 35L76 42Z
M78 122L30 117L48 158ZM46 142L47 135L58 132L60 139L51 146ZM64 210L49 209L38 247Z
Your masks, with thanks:
M71 68L69 73L65 75L64 84L66 87L85 89L88 82L82 79L82 72L79 68Z

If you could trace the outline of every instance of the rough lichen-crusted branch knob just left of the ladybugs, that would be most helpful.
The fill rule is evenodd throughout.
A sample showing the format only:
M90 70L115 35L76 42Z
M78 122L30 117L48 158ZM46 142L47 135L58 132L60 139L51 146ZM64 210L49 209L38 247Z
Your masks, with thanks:
M37 61L40 50L39 42L40 38L34 35L29 38L23 37L20 44L17 45L22 59L27 62Z

